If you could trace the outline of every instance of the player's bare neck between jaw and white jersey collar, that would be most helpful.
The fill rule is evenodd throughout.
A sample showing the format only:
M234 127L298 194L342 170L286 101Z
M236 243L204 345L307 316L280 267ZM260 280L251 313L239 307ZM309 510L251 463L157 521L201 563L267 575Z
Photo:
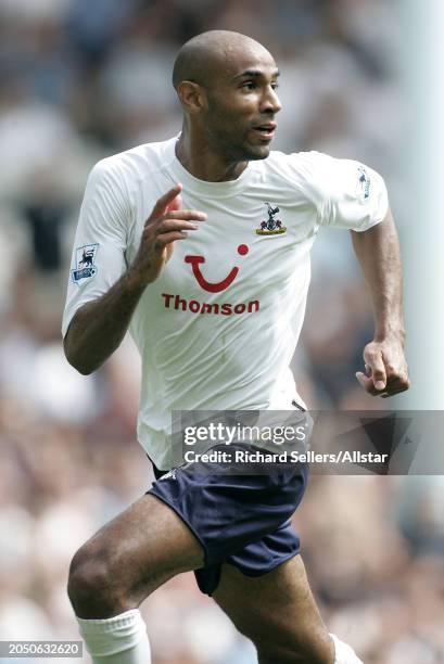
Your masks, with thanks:
M191 175L207 182L236 180L248 166L248 162L236 162L217 153L202 135L186 124L176 144L176 156Z

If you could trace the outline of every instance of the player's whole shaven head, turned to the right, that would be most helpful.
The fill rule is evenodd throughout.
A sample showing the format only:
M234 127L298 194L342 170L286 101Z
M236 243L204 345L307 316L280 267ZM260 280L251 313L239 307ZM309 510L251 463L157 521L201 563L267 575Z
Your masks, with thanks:
M240 33L211 30L187 41L173 72L182 145L231 166L268 156L280 111L278 76L267 49Z

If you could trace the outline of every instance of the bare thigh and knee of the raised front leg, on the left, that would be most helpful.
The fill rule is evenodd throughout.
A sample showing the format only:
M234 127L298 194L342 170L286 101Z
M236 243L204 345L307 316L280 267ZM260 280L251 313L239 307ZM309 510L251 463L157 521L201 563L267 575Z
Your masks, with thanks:
M134 608L168 578L203 563L204 550L186 523L145 494L77 551L69 575L72 601L86 603L93 617L101 617L96 613L107 611L107 603L110 610Z

